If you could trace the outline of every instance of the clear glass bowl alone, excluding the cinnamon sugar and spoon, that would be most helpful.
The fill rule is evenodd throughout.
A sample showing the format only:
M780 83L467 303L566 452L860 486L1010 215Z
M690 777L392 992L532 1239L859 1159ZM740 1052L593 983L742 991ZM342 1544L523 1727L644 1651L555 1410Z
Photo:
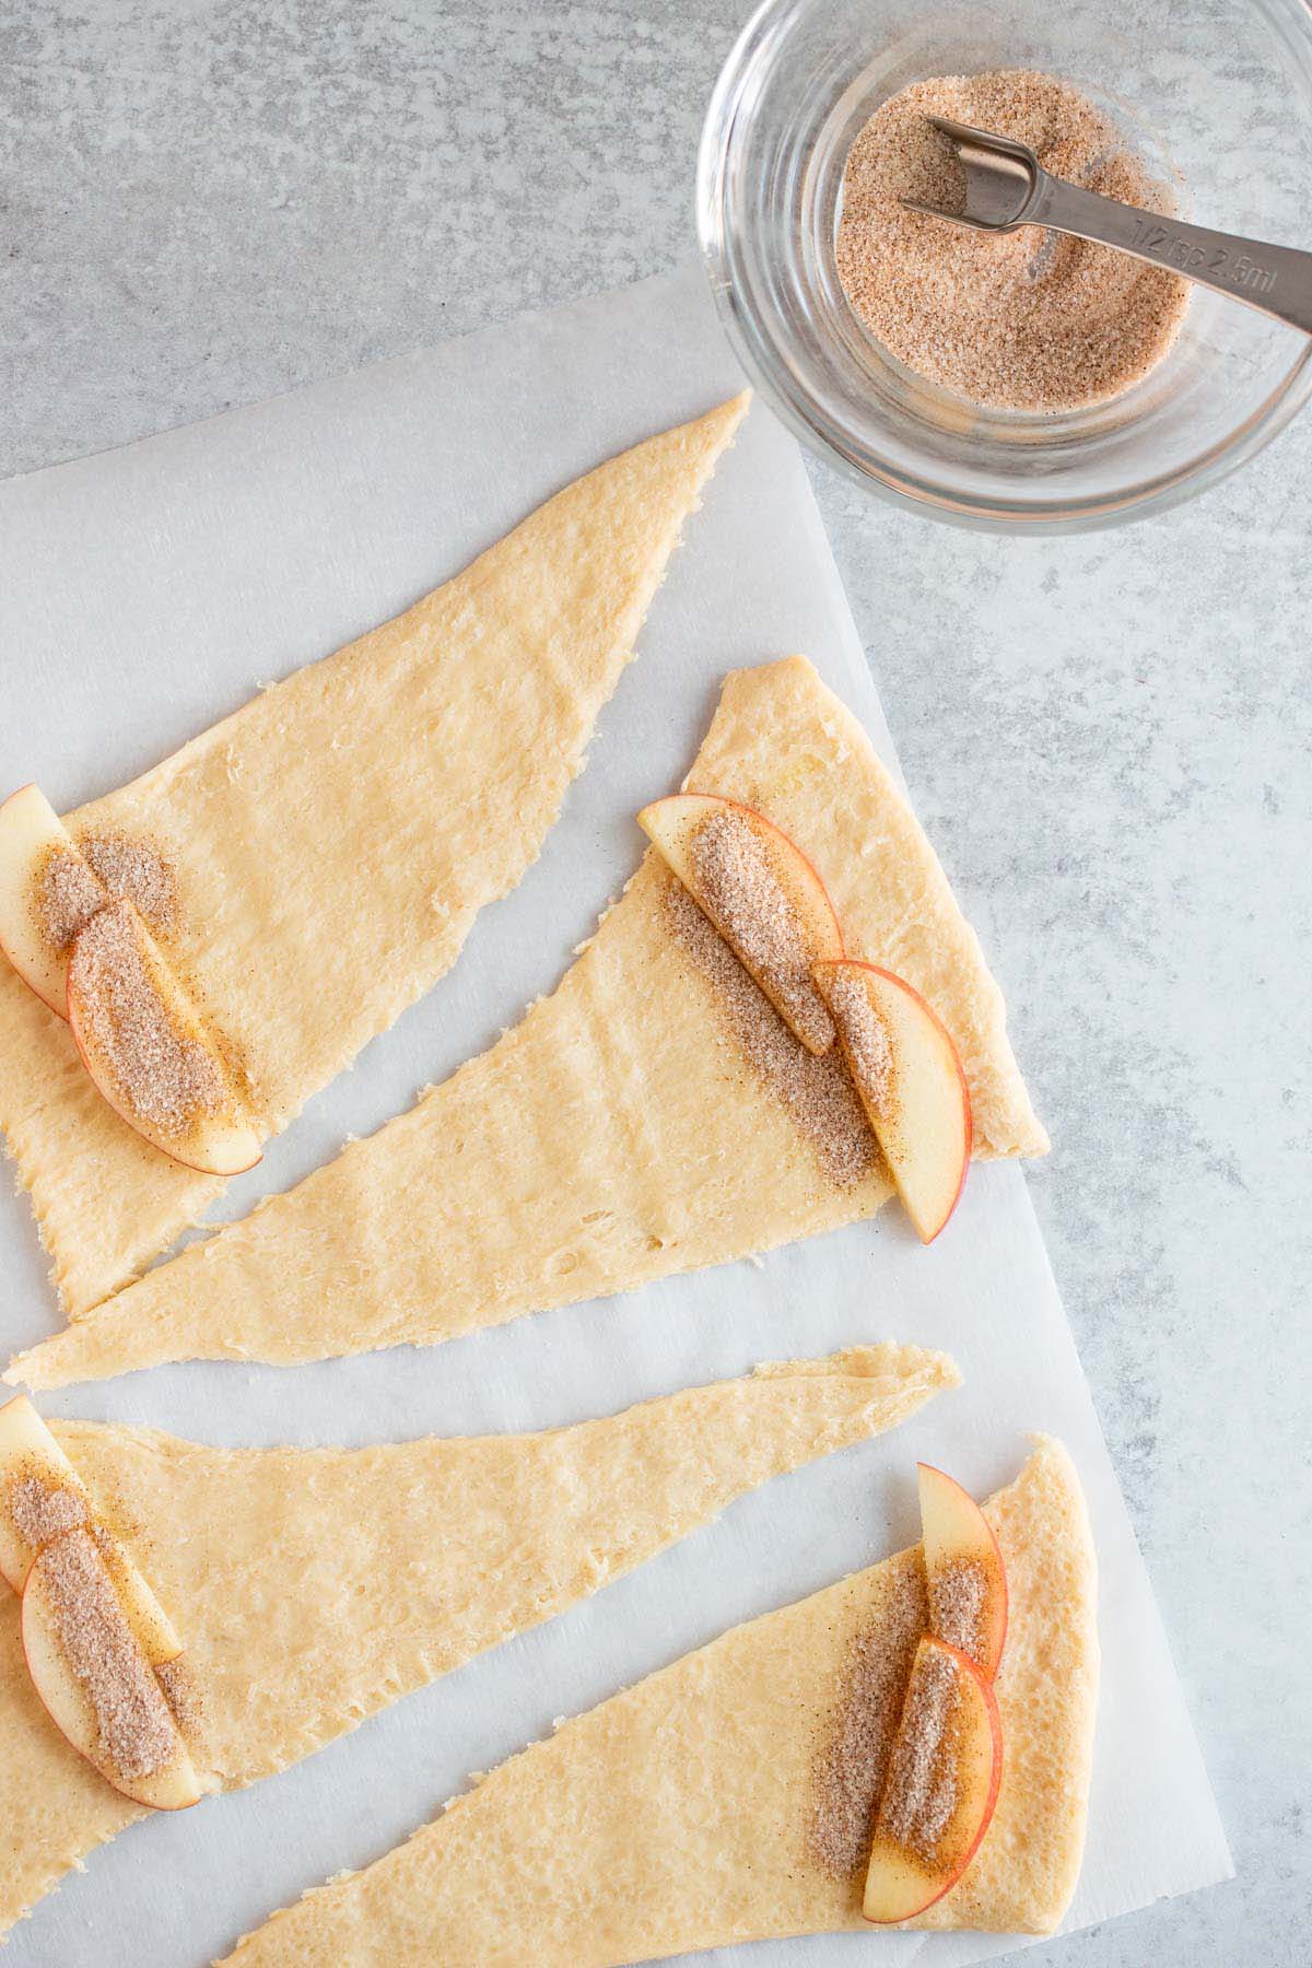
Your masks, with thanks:
M702 254L738 354L822 457L964 525L1074 531L1202 492L1302 407L1308 337L1194 287L1172 350L1123 396L993 411L903 368L848 307L834 232L854 136L907 83L985 69L1076 83L1174 183L1182 218L1312 244L1304 0L765 0L698 161Z

